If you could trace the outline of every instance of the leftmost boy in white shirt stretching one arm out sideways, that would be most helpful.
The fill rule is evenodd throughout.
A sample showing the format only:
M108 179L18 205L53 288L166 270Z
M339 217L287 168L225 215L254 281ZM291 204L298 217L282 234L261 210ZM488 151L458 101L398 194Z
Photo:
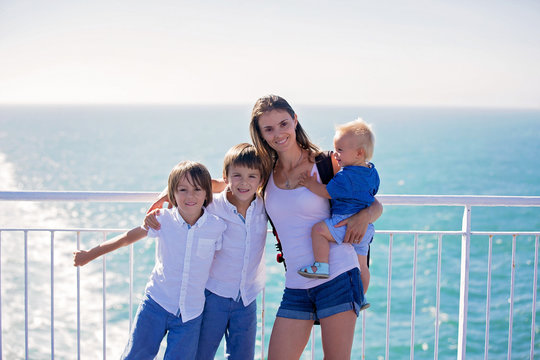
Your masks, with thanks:
M122 359L153 359L166 333L165 359L195 359L204 308L204 289L225 223L208 213L212 179L204 165L183 161L171 171L168 197L174 205L157 218L160 230L136 227L89 251L76 251L73 264L156 238L156 264L139 305Z

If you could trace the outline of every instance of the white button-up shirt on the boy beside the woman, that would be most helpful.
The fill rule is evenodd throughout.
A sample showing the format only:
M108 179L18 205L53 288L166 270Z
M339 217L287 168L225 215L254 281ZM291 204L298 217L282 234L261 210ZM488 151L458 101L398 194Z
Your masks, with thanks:
M206 288L222 297L237 299L244 306L257 298L264 288L267 217L264 203L256 197L243 219L236 207L227 200L227 190L214 194L207 209L225 221L223 245L216 252ZM244 222L245 220L245 222Z

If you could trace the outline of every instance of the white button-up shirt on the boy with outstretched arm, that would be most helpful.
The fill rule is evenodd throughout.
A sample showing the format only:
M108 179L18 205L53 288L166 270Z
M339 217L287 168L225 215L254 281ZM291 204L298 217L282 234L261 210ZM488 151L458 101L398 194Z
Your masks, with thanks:
M156 263L146 294L171 314L180 310L185 322L203 311L208 274L227 226L206 210L193 226L177 208L164 209L157 219L161 229L148 231L156 238Z

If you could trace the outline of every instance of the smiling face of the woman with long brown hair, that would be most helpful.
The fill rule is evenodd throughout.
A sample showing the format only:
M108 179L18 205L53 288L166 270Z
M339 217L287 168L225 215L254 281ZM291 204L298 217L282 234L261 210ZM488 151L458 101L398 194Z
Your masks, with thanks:
M297 146L296 125L298 120L285 110L272 110L259 117L259 129L263 140L278 153Z

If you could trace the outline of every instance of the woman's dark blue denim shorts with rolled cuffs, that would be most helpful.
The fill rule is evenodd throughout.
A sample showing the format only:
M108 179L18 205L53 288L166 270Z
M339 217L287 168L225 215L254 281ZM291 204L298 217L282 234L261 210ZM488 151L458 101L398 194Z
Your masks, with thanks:
M285 288L276 316L314 320L354 310L356 316L364 303L360 270L354 268L311 289Z

